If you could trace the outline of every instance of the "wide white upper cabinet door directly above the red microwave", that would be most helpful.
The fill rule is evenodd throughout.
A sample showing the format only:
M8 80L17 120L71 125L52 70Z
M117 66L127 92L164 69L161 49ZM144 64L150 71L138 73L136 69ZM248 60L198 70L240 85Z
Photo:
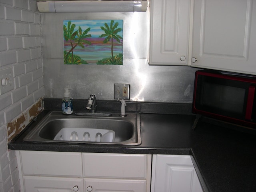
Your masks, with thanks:
M194 0L191 65L256 74L255 34L256 0Z

